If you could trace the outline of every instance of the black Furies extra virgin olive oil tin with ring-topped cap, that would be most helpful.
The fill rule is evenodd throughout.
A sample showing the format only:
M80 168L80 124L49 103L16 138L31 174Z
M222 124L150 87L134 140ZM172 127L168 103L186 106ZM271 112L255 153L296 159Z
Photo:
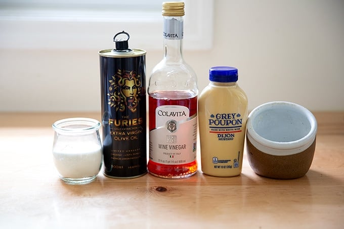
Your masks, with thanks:
M103 172L112 178L147 173L146 51L129 49L129 37L119 32L116 49L99 51Z

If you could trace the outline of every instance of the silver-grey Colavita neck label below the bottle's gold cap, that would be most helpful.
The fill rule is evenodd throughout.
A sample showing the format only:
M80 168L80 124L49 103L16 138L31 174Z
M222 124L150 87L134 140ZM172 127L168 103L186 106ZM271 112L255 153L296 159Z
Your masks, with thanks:
M183 21L175 18L164 19L164 27L162 35L165 39L181 40L183 39Z

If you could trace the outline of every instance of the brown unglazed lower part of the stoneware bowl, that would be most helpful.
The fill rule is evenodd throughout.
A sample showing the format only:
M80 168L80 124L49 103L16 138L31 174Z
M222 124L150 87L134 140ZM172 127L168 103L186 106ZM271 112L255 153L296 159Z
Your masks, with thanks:
M304 176L311 167L316 140L303 152L275 156L256 149L246 138L246 150L249 165L261 176L275 179L294 179Z

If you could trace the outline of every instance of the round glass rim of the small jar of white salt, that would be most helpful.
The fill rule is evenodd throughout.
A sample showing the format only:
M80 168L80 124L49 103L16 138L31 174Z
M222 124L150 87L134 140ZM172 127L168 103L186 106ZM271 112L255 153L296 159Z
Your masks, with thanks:
M97 131L101 123L93 118L65 118L54 122L53 129L58 133L89 133Z

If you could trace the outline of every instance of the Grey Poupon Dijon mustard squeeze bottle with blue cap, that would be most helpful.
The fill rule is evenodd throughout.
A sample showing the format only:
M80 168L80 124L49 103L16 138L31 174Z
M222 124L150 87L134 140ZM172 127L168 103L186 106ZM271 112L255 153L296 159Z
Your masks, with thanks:
M198 100L201 168L212 176L236 176L242 168L247 97L236 68L211 67L209 80Z

